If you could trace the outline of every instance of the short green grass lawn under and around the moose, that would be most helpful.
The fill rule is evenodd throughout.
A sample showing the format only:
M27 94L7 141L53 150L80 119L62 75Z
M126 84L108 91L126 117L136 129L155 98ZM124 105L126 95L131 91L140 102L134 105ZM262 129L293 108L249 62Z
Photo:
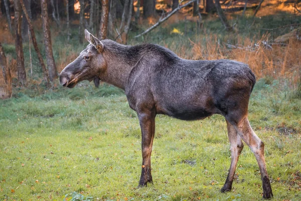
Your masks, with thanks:
M284 86L259 80L249 120L265 143L273 200L300 200L301 99L284 92ZM19 89L16 97L0 102L0 200L63 200L74 191L92 200L261 198L258 166L246 146L233 190L219 192L230 165L221 116L186 122L158 115L154 184L136 188L140 128L121 90L84 82L42 95L35 91Z

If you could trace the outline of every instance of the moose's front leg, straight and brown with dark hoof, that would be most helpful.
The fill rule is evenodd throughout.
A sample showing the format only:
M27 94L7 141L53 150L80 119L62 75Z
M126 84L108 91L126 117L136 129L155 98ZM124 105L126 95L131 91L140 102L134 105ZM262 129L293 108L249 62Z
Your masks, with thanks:
M147 183L153 183L152 173L150 172L150 155L152 155L155 136L155 117L155 112L138 113L142 133L142 169L139 187L146 186Z

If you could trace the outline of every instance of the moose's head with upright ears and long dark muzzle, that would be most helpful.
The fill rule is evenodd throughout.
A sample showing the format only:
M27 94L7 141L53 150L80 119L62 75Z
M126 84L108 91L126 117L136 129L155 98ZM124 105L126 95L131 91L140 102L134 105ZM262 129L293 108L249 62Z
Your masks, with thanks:
M92 81L95 86L99 85L100 71L106 67L105 59L102 55L104 45L85 29L85 38L90 43L79 56L68 64L60 73L60 84L73 88L82 80Z

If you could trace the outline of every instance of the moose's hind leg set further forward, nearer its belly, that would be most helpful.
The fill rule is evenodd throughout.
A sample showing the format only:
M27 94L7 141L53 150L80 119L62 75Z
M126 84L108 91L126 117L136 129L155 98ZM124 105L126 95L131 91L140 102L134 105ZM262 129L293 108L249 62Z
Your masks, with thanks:
M221 189L221 192L228 192L232 189L232 183L234 178L234 173L238 161L238 157L243 149L243 143L241 137L237 134L235 128L226 120L228 137L230 141L230 151L231 151L231 165L229 173L226 179L224 186Z

